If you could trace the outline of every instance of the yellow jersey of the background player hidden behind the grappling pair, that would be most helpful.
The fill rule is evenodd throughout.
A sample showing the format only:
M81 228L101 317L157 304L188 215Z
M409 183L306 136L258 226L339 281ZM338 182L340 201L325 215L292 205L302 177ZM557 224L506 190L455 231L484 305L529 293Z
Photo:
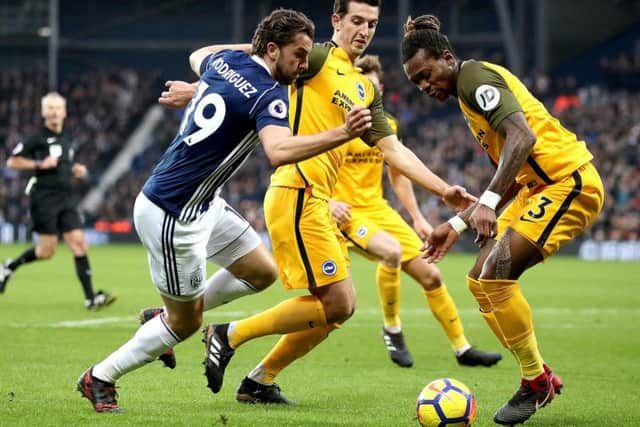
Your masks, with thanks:
M398 124L387 114L389 126L400 139ZM338 182L333 198L353 207L385 204L382 193L384 156L378 147L370 147L361 139L354 139L346 147L344 164L338 169Z

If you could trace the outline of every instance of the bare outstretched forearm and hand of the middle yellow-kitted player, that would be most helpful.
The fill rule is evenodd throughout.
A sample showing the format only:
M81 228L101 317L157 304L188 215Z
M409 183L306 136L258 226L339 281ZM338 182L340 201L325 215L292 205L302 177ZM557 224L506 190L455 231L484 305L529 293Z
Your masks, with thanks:
M385 161L400 173L422 186L442 200L455 211L469 207L476 198L458 185L449 185L418 159L418 157L402 145L395 135L379 139L376 145L384 154Z

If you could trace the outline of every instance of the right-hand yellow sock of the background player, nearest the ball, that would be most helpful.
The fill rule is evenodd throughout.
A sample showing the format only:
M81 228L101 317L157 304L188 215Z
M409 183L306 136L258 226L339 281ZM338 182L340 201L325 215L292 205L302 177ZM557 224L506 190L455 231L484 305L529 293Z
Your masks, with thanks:
M451 347L455 351L468 348L469 342L464 336L464 328L460 316L458 316L458 309L445 284L441 283L439 288L431 291L425 289L424 294L431 312L447 334Z

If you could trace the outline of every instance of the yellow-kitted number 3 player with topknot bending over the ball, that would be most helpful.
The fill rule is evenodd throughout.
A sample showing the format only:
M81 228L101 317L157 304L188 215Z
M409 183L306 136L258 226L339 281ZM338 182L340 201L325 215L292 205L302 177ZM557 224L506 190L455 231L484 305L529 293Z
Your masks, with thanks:
M540 355L518 279L594 221L603 204L602 181L583 141L505 68L459 60L435 16L409 18L402 58L407 77L422 92L440 101L457 97L471 132L497 167L480 200L431 233L425 256L437 262L467 226L476 231L480 253L467 283L523 377L494 421L523 423L551 402L562 381ZM507 203L496 218L498 205Z

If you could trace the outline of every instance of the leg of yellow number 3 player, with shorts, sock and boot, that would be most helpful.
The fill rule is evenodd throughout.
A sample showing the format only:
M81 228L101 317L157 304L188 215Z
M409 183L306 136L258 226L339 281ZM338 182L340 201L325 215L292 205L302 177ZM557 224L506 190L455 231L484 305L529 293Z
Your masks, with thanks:
M516 394L496 412L497 423L527 420L553 399L558 381L544 366L531 308L517 280L526 269L582 233L597 217L602 201L602 182L591 164L538 189L528 197L521 215L512 219L483 265L479 282L523 377Z

